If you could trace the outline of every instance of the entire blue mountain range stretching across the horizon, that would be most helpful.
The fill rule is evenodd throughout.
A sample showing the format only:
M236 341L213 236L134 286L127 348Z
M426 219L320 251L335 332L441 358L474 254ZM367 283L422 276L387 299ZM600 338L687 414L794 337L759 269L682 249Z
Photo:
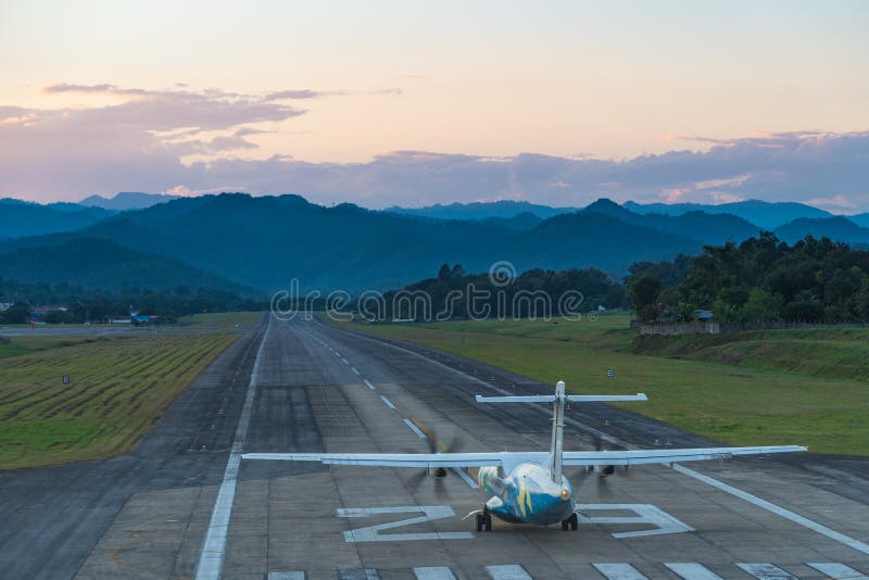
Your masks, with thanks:
M0 243L0 277L106 288L185 283L244 293L287 288L295 278L303 289L358 291L396 288L433 275L443 263L484 272L499 260L517 272L597 267L620 277L638 261L692 254L769 229L735 213L693 206L640 212L631 210L635 204L606 199L581 210L550 207L547 217L534 213L546 206L524 202L495 202L489 214L488 204L473 205L466 215L476 217L458 219L353 204L326 207L291 194L223 193L127 211L0 203L0 223L9 222L4 213L24 207L35 216L25 231L41 234L0 232L8 238ZM820 210L807 205L745 202L736 211L753 209L766 212L766 224L783 219L768 215L779 210L788 217L805 213L773 229L788 241L811 234L869 244L869 228L826 212L818 217ZM61 218L95 216L93 211L103 213L77 227ZM34 231L40 219L42 229ZM47 231L52 224L64 226Z

